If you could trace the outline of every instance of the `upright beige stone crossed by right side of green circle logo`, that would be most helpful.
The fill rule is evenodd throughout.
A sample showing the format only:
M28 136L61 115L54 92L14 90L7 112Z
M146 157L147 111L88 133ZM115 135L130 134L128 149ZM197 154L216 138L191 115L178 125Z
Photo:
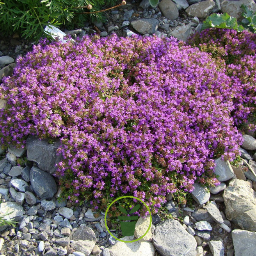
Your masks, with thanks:
M139 217L138 221L136 222L135 225L135 232L134 236L136 238L140 238L143 236L146 231L148 230L150 225L150 217L147 216L146 218ZM149 228L148 233L142 237L139 242L144 242L144 241L151 241L152 240L152 232L151 232L151 227Z

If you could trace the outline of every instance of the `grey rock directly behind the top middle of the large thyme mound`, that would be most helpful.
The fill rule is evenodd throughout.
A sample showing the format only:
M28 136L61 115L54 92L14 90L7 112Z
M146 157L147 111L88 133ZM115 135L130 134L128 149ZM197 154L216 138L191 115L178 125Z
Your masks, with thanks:
M159 22L156 19L139 19L133 20L130 25L140 34L154 34L159 27Z

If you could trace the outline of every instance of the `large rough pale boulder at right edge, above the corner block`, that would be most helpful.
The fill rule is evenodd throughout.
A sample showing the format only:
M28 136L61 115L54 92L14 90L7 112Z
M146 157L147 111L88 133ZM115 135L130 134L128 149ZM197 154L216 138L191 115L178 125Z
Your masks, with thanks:
M256 231L256 192L250 183L234 179L225 189L226 217L241 228Z

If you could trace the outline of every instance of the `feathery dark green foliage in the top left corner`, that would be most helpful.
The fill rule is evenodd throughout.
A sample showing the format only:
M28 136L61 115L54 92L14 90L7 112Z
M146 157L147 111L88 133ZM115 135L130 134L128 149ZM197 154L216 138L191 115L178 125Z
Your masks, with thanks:
M38 41L40 37L49 37L44 32L46 25L68 28L82 27L85 21L102 20L102 14L80 14L93 12L113 6L117 0L0 0L0 32L12 35L15 32L21 37ZM92 9L75 9L92 5ZM71 23L72 21L72 23Z

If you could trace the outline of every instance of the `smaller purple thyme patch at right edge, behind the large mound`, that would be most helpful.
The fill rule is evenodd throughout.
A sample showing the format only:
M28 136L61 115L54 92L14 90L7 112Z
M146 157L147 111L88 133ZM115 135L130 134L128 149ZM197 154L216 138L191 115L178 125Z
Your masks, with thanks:
M246 30L209 28L196 33L188 44L226 64L231 78L234 110L232 116L240 130L256 130L256 34Z

